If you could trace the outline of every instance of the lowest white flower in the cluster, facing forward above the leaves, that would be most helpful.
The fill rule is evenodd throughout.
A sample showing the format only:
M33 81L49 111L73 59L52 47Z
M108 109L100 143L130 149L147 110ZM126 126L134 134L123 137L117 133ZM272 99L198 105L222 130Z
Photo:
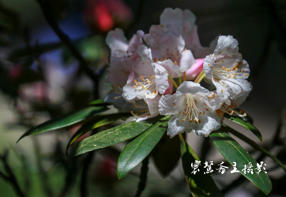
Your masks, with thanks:
M221 126L216 110L223 101L222 94L209 92L198 83L183 82L175 94L162 96L159 101L161 115L174 114L168 122L167 135L194 131L208 136Z

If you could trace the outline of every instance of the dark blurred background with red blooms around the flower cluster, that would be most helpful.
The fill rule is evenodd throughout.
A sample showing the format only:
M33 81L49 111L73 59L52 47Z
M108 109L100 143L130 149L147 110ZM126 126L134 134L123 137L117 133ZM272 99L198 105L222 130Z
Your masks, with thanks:
M96 80L58 38L39 5L48 5L52 17L88 62ZM249 81L253 85L242 107L251 114L254 125L261 131L263 147L285 164L285 1L0 0L1 196L135 194L140 166L121 180L116 174L117 159L124 144L97 150L95 154L66 157L66 143L78 127L15 142L30 127L80 109L93 99L104 98L110 90L105 80L109 57L105 44L107 32L119 27L124 29L128 39L138 29L148 33L152 24L159 24L160 14L166 7L190 9L195 13L204 46L219 34L233 35L239 41L239 50L250 65ZM99 130L119 123L122 121ZM251 134L244 134L253 138ZM202 160L224 161L208 138L190 134L187 141ZM164 139L160 143L163 142ZM257 161L267 163L273 185L269 195L283 196L285 173L250 146L239 143ZM169 147L164 143L162 146ZM166 154L154 150L154 155ZM154 162L164 167L156 158ZM158 171L154 162L150 164L143 196L190 195L180 162L180 167L168 178L164 175L169 169L162 167ZM214 173L212 177L226 196L263 195L244 182L246 179L241 175Z

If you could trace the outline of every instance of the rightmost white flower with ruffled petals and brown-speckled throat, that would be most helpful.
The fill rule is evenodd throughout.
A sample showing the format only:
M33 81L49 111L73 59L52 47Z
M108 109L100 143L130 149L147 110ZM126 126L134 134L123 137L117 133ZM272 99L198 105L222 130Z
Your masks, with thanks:
M206 78L210 79L218 93L225 93L228 100L236 100L251 91L251 84L246 80L249 66L238 52L238 41L233 36L219 36L217 47L212 55L206 56L203 65ZM248 73L244 72L247 71Z

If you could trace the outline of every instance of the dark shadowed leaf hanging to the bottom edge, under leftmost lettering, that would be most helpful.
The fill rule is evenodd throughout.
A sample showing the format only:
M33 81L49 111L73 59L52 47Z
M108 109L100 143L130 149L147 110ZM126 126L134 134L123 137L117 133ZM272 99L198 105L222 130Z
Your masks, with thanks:
M195 160L200 161L200 158L195 153L195 151L184 141L184 138L181 134L179 135L179 138L185 178L187 180L192 195L195 197L223 196L223 194L217 188L210 174L203 173L205 169L203 168L201 163L198 168L200 172L197 172L200 174L192 173L193 169L191 168L191 163L194 163Z

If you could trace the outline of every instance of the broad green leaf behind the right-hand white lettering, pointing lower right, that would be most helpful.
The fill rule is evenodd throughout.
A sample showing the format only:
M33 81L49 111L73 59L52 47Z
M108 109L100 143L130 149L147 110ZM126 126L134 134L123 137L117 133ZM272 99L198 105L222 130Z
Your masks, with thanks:
M257 174L257 162L251 155L246 152L246 150L239 145L230 135L224 132L224 128L220 128L217 132L212 132L210 137L219 150L223 157L233 165L233 162L236 162L236 168L239 172L245 176L248 180L250 180L253 184L255 184L264 194L269 194L272 189L272 183L270 178L261 168L261 172ZM221 131L221 132L220 132ZM249 162L253 165L253 174L246 173L242 171L244 169L244 165L247 165Z

